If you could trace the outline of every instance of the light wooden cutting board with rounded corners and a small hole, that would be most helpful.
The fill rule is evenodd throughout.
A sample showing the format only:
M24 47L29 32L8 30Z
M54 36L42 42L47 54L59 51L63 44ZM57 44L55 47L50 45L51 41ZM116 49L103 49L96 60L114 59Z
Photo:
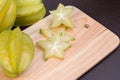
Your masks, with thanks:
M70 7L70 6L69 6ZM24 30L35 44L35 56L28 69L19 77L5 77L0 69L0 80L75 80L103 58L109 55L118 45L119 38L103 25L74 7L72 22L75 26L69 33L76 40L64 54L64 60L43 60L43 52L36 47L41 39L39 29L48 27L52 17L48 16Z

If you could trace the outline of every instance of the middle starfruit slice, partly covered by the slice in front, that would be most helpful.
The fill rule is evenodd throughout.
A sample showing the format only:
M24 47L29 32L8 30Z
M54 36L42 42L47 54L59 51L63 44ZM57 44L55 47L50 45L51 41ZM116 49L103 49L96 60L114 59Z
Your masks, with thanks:
M67 32L66 32L66 30L65 30L65 28L62 28L62 29L60 29L60 30L52 30L52 29L43 29L43 28L41 28L40 29L40 33L42 34L42 35L44 35L46 38L50 38L50 37L54 37L55 35L58 35L58 34L60 34L61 33L61 39L63 40L63 41L73 41L73 40L75 40L75 38L73 37L73 36L71 36L71 35L69 35Z

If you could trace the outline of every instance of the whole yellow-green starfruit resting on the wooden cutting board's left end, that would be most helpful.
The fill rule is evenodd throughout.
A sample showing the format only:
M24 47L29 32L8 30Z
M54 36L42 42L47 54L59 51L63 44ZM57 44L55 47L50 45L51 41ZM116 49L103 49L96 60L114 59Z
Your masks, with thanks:
M19 27L0 34L0 65L8 77L21 74L34 56L32 39Z

